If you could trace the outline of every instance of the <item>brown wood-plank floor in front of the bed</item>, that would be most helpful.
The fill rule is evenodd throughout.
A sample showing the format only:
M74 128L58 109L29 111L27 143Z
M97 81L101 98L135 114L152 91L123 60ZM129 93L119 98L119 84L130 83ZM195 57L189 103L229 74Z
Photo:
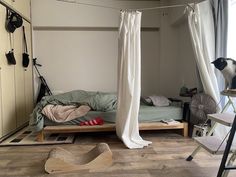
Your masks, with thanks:
M144 149L127 149L114 133L80 133L74 144L53 146L0 147L0 176L61 176L61 177L215 177L221 156L202 150L192 162L185 158L195 143L173 133L143 132L142 137L152 141ZM75 155L87 152L97 143L106 142L113 152L113 165L100 171L80 171L48 175L44 163L49 151L60 146ZM236 171L230 172L236 176Z

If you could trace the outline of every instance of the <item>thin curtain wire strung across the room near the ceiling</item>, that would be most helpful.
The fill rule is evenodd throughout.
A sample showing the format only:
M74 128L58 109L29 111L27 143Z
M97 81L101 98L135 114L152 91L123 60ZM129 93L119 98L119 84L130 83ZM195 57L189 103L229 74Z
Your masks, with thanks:
M107 9L119 10L119 11L122 10L122 8L111 7L111 6L103 6L103 5L97 5L97 4L90 4L90 3L83 3L83 2L78 2L76 0L72 0L72 1L71 0L57 0L57 1L65 2L65 3L72 3L72 4L81 4L81 5L87 5L87 6L94 6L94 7L102 7L102 8L107 8ZM144 10L166 9L166 8L185 7L185 6L188 6L192 10L194 10L193 7L190 6L188 3L186 3L186 4L169 5L169 6L157 6L157 7L138 8L138 9L127 9L127 10L144 11Z

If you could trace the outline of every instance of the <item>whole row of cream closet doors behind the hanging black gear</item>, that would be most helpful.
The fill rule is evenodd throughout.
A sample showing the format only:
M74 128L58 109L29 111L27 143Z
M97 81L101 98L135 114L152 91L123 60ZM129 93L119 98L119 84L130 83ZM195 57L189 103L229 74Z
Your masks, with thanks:
M5 0L24 16L30 18L30 0ZM23 32L12 34L16 65L9 65L5 54L11 50L9 33L5 29L6 8L0 5L0 137L14 131L29 120L33 110L32 60L28 68L22 66ZM28 53L31 59L31 26L24 21Z

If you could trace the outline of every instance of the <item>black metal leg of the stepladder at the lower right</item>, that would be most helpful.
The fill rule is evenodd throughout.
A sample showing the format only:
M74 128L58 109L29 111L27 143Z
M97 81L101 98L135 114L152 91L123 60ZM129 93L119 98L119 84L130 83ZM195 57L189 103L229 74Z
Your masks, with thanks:
M217 177L222 177L225 170L236 170L236 166L226 166L227 159L228 159L230 149L232 146L232 142L234 140L235 131L236 131L236 115L234 117L234 122L233 122L231 130L230 130L229 138L227 141L227 145L225 147L224 155L221 160L221 164L220 164L220 168L219 168ZM236 152L234 152L234 153L236 153Z

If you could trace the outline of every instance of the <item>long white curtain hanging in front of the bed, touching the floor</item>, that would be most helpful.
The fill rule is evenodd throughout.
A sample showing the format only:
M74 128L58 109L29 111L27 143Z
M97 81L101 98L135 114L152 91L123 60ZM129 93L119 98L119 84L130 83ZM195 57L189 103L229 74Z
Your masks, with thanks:
M128 148L143 148L151 142L139 135L141 94L141 12L121 11L118 59L118 107L116 133Z

